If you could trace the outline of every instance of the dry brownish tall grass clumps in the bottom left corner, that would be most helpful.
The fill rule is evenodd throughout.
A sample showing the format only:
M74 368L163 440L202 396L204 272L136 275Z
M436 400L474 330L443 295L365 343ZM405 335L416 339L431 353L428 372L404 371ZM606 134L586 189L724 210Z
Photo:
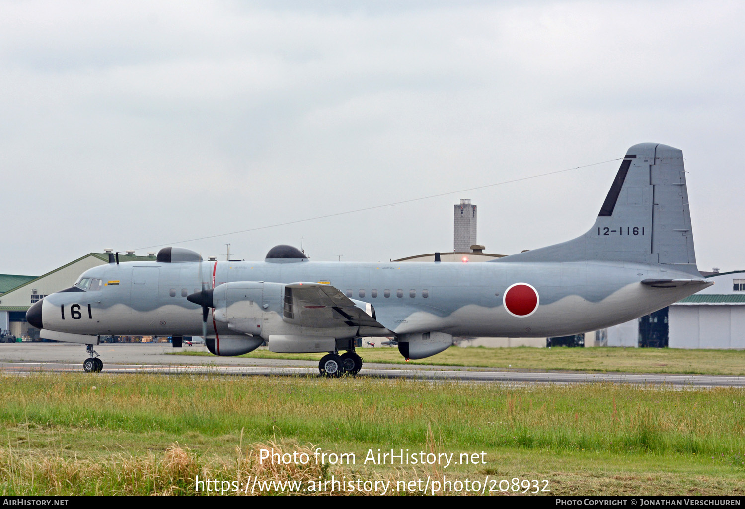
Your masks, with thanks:
M268 444L236 446L233 458L206 458L174 443L159 456L118 453L107 458L63 458L54 454L22 454L12 447L0 448L0 493L4 496L45 493L68 495L197 495L252 494L250 481L260 476L263 481L288 478L302 481L327 479L329 465L308 463L270 464L260 461L261 449L310 453L308 446L280 441ZM236 481L233 485L197 486L201 478ZM238 489L236 489L236 487ZM263 494L292 493L278 490L276 484Z

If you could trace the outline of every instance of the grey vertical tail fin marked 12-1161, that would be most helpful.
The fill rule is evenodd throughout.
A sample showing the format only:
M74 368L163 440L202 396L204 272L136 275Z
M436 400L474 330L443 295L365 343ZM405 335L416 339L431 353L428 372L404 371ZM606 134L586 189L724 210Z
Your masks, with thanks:
M676 265L697 271L681 150L654 143L634 145L586 234L499 261L581 260Z

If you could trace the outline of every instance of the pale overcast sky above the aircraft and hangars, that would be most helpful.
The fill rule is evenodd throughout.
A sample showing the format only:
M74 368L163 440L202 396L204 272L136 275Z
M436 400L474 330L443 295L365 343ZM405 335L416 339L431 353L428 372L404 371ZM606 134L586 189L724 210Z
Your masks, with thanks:
M4 1L0 273L176 245L261 260L512 254L683 150L699 268L745 268L745 2ZM158 247L139 249L138 254ZM224 259L224 256L221 256Z

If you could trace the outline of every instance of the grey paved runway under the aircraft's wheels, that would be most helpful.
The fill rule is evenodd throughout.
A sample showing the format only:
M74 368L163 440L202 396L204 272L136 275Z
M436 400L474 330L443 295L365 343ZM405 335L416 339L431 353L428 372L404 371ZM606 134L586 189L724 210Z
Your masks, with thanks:
M200 347L185 349L200 350ZM96 351L104 359L104 372L157 374L215 375L281 375L317 377L315 361L285 359L247 359L219 356L174 356L166 344L98 345ZM81 345L65 343L0 344L0 372L28 374L31 371L80 371L86 358ZM92 375L95 376L95 375ZM453 368L452 366L422 366L373 364L363 366L358 377L413 378L421 380L461 380L468 382L522 384L634 383L680 387L741 387L745 377L688 374L624 374L569 371L504 371L492 368Z

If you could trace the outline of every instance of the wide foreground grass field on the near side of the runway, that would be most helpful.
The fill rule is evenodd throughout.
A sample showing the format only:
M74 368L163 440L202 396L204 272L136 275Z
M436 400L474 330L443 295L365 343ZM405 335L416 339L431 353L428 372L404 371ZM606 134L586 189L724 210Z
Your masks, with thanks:
M519 478L545 479L554 495L745 495L745 393L735 388L77 373L0 380L4 495L189 495L197 476L241 488L257 478L304 481L303 489L332 476L393 487ZM259 462L272 447L311 458L316 449L354 453L356 462ZM371 449L455 461L484 452L486 462L365 464Z

